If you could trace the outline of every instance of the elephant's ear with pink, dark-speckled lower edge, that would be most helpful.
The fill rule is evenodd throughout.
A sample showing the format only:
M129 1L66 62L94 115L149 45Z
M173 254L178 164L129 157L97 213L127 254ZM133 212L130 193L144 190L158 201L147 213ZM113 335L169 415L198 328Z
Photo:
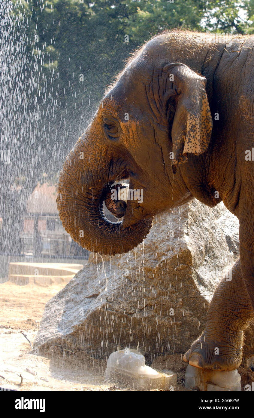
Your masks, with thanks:
M206 95L206 79L181 63L168 64L163 72L172 82L166 82L166 96L172 97L173 90L176 102L171 129L175 174L178 164L188 161L188 153L200 155L207 150L213 122Z

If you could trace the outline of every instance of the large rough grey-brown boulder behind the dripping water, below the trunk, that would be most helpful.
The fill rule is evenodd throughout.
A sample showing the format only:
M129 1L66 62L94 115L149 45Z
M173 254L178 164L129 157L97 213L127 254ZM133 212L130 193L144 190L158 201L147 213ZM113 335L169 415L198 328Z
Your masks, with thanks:
M222 204L194 200L157 216L133 251L91 254L46 304L34 347L100 358L126 346L148 359L184 353L204 328L221 271L238 256L238 228Z

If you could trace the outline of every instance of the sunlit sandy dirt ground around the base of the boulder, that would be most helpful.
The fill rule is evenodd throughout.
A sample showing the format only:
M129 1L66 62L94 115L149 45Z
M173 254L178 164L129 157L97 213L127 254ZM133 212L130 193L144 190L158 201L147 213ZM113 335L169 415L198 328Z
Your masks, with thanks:
M45 303L64 285L0 284L0 386L16 390L131 390L104 383L103 361L79 361L68 353L64 357L59 353L54 359L32 354ZM181 354L158 357L151 366L173 370L177 375L174 390L186 390L186 364ZM254 372L248 367L240 367L239 373L242 387L254 381Z

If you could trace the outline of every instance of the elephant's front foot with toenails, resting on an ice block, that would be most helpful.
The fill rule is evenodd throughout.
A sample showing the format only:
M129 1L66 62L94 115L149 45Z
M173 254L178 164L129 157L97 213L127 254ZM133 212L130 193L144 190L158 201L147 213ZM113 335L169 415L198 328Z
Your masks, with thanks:
M235 370L241 364L242 342L242 331L236 334L231 331L220 340L217 335L213 337L204 331L184 354L183 360L205 370Z

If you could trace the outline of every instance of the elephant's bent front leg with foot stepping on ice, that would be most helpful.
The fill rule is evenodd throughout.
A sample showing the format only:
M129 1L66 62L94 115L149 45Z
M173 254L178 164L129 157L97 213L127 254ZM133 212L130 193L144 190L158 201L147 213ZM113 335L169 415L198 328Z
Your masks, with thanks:
M207 370L234 370L241 364L244 329L254 317L241 273L232 267L231 281L219 283L209 306L206 328L184 354L184 361Z

